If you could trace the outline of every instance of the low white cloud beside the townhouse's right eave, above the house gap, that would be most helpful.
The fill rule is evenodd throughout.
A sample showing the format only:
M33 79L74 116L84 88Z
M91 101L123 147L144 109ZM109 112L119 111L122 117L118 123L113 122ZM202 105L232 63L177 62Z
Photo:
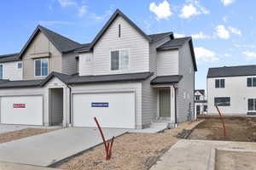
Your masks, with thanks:
M207 48L195 48L195 58L201 62L213 62L217 61L216 54Z

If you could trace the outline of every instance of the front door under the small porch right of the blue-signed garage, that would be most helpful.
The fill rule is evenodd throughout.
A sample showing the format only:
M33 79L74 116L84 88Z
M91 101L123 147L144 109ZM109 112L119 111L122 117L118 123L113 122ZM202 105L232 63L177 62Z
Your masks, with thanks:
M159 105L160 105L159 107L160 117L170 117L171 116L170 88L160 89Z

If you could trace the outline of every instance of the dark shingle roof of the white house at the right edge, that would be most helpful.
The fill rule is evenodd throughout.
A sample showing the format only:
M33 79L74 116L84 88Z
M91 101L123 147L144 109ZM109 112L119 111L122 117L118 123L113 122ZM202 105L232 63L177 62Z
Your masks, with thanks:
M256 65L240 65L209 68L207 77L242 77L255 75Z

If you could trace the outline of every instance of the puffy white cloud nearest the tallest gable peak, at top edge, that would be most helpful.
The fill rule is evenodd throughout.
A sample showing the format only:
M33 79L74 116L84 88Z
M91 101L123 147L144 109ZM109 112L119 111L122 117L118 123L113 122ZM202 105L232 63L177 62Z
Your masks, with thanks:
M172 16L170 4L165 0L163 3L150 3L149 10L156 15L157 20L168 20Z

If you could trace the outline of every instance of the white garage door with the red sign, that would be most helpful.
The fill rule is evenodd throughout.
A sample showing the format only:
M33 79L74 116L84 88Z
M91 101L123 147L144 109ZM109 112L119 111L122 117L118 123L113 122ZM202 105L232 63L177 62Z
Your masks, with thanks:
M43 124L43 97L1 97L1 122L5 124Z

